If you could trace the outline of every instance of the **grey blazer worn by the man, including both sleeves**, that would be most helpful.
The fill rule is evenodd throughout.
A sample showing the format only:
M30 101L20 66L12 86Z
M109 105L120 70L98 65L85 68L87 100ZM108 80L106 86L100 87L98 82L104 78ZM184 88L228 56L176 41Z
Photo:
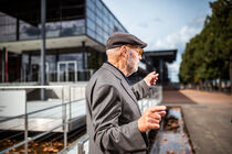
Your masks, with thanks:
M137 125L137 102L148 92L144 80L130 87L117 68L103 64L86 88L89 154L147 152L147 135Z

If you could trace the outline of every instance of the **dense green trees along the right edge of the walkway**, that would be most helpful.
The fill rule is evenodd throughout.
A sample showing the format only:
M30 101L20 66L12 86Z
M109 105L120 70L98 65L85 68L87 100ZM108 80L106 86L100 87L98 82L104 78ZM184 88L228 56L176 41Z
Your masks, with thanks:
M221 80L231 80L232 87L232 2L218 0L210 7L212 15L207 16L202 31L190 40L182 55L180 81L219 79L221 87Z

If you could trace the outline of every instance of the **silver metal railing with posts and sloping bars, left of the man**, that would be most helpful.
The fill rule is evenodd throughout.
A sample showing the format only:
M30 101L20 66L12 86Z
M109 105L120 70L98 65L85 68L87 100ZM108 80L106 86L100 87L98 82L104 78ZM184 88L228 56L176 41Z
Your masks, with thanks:
M11 120L18 120L18 119L21 119L23 118L24 119L24 141L22 142L19 142L10 147L7 147L6 150L3 151L0 151L0 154L2 153L6 153L6 152L9 152L15 147L19 147L21 145L24 144L24 153L28 154L28 143L31 142L31 141L35 141L38 140L39 138L42 138L42 136L45 136L48 135L49 133L53 132L54 130L56 129L63 129L63 136L64 136L64 146L63 148L66 148L67 147L67 132L68 132L68 124L78 120L80 117L72 117L72 109L71 109L71 105L74 105L74 103L78 103L80 101L82 101L83 99L76 99L76 98L71 98L72 94L72 88L74 89L75 87L77 86L68 86L67 89L68 89L68 97L67 99L65 100L65 96L64 96L64 88L67 87L67 86L12 86L12 87L0 87L0 90L12 90L12 89L61 89L61 105L56 105L56 106L52 106L52 107L48 107L45 109L40 109L40 110L35 110L35 111L31 111L31 112L28 112L28 101L25 101L25 112L24 114L19 114L19 116L13 116L13 117L8 117L8 118L1 118L0 119L0 124L2 124L3 122L8 122L8 121L11 121ZM81 89L82 88L85 88L85 86L81 86ZM84 92L85 90L81 90L81 92ZM81 96L84 96L83 94L81 94ZM60 99L59 99L60 100ZM65 102L66 101L66 102ZM49 102L48 102L49 103ZM70 117L67 117L67 106L70 107ZM35 114L35 113L41 113L41 112L44 112L44 111L48 111L48 110L51 110L51 109L54 109L54 108L62 108L62 123L61 124L57 124L38 135L34 135L32 138L29 138L29 116L32 116L32 114ZM18 125L17 125L18 127ZM8 129L7 131L11 130L12 128ZM22 134L22 133L20 133ZM17 134L18 135L18 134Z

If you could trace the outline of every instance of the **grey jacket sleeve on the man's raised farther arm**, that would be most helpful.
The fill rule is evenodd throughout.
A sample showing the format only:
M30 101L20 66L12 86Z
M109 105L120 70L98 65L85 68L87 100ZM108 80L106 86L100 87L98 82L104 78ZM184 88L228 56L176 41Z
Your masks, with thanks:
M149 94L149 86L145 80L140 80L131 87L133 92L135 94L137 100L145 98Z

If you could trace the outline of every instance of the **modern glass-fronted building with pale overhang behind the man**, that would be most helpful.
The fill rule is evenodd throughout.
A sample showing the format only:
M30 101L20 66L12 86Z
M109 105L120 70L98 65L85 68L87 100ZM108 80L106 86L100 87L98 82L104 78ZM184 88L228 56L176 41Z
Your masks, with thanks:
M88 80L127 32L102 0L46 0L46 82ZM0 1L1 82L40 81L41 0Z

